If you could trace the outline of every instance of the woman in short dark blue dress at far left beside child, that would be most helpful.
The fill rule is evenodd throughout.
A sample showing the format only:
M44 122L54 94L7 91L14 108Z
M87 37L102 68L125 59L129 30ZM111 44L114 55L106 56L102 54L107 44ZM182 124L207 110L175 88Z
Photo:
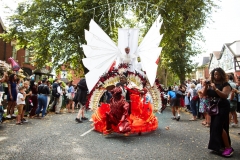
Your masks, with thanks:
M17 75L11 74L8 81L8 106L7 106L7 118L16 117L14 114L14 107L16 106L17 101Z

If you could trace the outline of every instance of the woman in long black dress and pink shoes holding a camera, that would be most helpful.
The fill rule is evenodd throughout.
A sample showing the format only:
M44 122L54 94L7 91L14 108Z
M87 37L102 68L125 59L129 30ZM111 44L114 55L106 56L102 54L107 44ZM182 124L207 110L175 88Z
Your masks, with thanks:
M219 108L218 114L211 116L208 149L217 152L224 149L222 155L230 157L233 154L233 148L229 136L230 104L227 98L231 92L231 86L227 82L226 73L222 68L213 69L211 82L205 82L203 85L203 96L209 97L210 104L217 101Z

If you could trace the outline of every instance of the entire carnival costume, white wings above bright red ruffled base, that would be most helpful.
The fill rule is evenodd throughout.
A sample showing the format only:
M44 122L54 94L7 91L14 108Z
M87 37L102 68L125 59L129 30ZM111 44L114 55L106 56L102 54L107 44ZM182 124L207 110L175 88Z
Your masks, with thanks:
M89 31L85 30L87 44L83 45L83 50L86 58L82 61L89 70L85 75L90 92L86 105L95 111L92 115L95 130L109 134L112 131L142 133L157 129L158 120L153 114L152 104L146 101L148 90L142 82L146 80L154 100L157 100L154 106L158 107L158 99L161 98L154 83L158 67L156 61L161 53L161 24L159 16L139 46L139 29L119 28L116 46L94 20L91 20ZM122 76L124 72L127 72L127 77ZM123 82L123 79L128 79L128 83ZM116 85L119 80L120 83ZM108 86L114 88L108 89ZM110 104L99 104L98 97L106 90L113 94Z

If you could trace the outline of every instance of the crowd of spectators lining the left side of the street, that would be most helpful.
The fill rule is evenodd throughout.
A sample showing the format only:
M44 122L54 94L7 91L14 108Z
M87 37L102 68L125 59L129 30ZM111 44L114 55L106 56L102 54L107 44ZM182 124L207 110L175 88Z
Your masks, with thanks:
M75 113L75 108L80 107L77 122L87 120L84 117L86 108L76 97L80 85L72 81L64 83L59 79L43 78L36 82L34 79L22 80L17 74L4 73L0 79L0 121L3 119L16 119L16 125L28 122L28 119L44 119L49 113L61 114L61 109L66 108L67 113ZM4 110L6 111L4 113Z

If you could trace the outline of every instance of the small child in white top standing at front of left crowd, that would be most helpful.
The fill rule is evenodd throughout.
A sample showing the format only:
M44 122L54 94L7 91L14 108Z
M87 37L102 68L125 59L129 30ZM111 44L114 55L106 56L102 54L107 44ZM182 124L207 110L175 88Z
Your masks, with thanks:
M17 94L17 109L18 109L18 115L16 118L16 124L21 125L21 116L23 114L23 107L25 105L25 98L26 98L26 93L25 93L25 87L19 87L19 92Z

